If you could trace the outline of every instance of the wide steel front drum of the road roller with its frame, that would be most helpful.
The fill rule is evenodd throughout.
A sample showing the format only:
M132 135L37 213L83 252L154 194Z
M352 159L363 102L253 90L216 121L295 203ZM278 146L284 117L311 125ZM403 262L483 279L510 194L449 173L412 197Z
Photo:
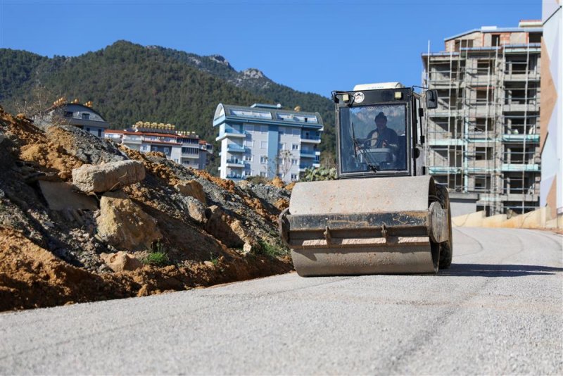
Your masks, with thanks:
M448 211L430 176L303 182L281 213L299 275L433 273Z

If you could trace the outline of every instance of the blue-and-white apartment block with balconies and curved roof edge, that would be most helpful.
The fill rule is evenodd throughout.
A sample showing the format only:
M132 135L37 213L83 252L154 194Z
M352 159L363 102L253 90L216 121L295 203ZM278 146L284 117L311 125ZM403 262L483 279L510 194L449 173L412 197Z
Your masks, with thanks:
M293 182L306 168L320 166L319 113L284 110L279 104L219 104L213 127L219 132L219 171L224 179L277 175Z

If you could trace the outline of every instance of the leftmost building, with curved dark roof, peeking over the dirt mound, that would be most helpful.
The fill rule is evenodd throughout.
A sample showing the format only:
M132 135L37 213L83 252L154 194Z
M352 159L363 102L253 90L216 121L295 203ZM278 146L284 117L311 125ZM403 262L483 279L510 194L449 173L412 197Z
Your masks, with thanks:
M74 125L96 137L103 139L110 124L94 108L92 102L80 104L78 99L68 102L64 97L57 99L51 108L46 110L42 120L61 124Z

